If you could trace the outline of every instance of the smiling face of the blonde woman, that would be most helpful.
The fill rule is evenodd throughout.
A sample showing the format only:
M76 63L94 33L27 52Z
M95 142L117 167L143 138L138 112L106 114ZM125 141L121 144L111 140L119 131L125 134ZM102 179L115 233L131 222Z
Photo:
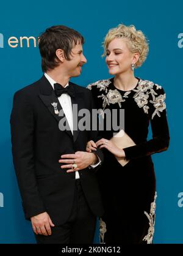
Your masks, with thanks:
M133 62L133 53L129 51L126 45L127 39L113 39L107 48L106 64L110 75L120 75L131 70Z

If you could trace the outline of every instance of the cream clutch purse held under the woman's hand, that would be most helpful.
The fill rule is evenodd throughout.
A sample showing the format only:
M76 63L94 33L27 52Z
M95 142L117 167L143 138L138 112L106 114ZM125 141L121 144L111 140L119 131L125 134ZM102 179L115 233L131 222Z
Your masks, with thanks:
M112 141L118 148L128 148L129 146L135 146L135 142L129 137L124 130L120 130L117 134L115 134L110 141ZM126 165L129 160L126 160L125 157L116 157L117 161L120 165Z

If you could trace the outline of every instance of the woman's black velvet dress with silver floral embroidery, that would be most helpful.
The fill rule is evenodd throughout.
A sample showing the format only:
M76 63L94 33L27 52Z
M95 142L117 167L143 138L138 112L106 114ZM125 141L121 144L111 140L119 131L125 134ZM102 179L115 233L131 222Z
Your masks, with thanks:
M136 144L124 148L126 159L130 160L124 167L104 149L104 164L98 171L105 209L101 243L152 243L154 235L156 176L151 154L165 151L170 137L165 92L151 81L137 79L137 86L131 91L115 88L113 78L88 85L98 109L115 108L118 115L120 108L124 109L124 131ZM149 122L151 140L147 140ZM111 128L99 135L109 140L113 132L117 131Z

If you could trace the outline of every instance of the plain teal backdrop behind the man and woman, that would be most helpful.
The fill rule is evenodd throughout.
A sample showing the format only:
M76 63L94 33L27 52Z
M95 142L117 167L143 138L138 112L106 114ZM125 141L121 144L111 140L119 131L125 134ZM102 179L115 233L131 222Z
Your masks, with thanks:
M73 81L87 86L109 78L101 58L101 43L107 31L119 23L134 24L149 39L148 59L135 70L135 75L155 81L167 92L170 148L153 156L157 177L154 243L183 243L182 10L183 2L179 0L1 1L0 243L35 243L30 222L24 219L21 208L12 164L9 119L15 91L38 80L42 72L34 39L27 47L26 39L21 45L20 37L37 37L56 24L81 32L85 37L84 54L88 62L81 77ZM131 198L132 203L134 198ZM117 225L115 220L114 225ZM98 243L98 228L95 243Z

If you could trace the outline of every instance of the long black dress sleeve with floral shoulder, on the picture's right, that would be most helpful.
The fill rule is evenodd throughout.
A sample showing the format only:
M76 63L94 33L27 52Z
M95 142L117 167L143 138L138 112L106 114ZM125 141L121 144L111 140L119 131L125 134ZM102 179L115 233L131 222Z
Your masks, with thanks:
M129 148L124 148L126 159L137 159L138 157L167 150L170 142L167 111L165 104L165 91L161 86L155 85L155 94L149 94L149 117L151 118L152 139Z

